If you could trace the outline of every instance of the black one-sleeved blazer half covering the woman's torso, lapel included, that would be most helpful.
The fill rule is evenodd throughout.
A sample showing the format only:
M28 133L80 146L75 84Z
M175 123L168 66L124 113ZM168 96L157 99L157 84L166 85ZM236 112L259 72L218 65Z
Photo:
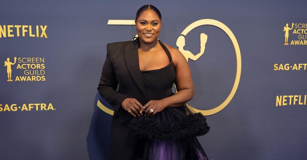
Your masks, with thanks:
M136 98L142 105L148 102L139 66L138 42L137 37L133 41L107 44L107 57L97 89L113 106L113 118L126 112L121 106L126 98Z

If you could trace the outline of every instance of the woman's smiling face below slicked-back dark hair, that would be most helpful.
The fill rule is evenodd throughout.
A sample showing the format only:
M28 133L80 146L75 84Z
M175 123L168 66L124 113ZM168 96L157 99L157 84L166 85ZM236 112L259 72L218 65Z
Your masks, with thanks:
M161 20L156 12L151 9L146 10L138 17L135 27L140 40L144 43L152 43L160 35Z

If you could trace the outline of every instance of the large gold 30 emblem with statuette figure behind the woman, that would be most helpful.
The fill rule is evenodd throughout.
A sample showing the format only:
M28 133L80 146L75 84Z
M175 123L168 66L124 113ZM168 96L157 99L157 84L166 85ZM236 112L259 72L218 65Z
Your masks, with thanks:
M109 20L108 24L135 25L135 22L134 22L134 20ZM178 50L185 56L187 61L188 61L188 59L192 59L193 61L195 61L200 56L202 56L204 54L205 45L206 45L206 42L208 40L208 36L205 33L200 34L200 53L194 55L190 51L183 49L183 47L185 46L185 36L189 32L191 32L194 28L196 28L198 26L202 26L202 25L216 26L216 27L222 29L228 35L228 37L230 38L230 40L233 44L233 47L235 49L235 55L236 55L236 61L237 61L235 82L232 86L230 94L227 96L227 98L224 100L224 102L222 102L219 106L216 106L211 110L198 110L198 109L188 105L188 103L185 104L194 113L200 112L204 116L207 116L207 115L212 115L212 114L218 113L220 110L225 108L227 106L227 104L231 101L233 96L235 95L235 92L237 91L237 88L239 86L242 62L241 62L241 52L240 52L239 44L238 44L237 39L235 38L235 35L231 32L231 30L225 24L221 23L220 21L212 20L212 19L202 19L202 20L197 20L197 21L193 22L187 28L185 28L183 30L183 32L181 32L181 35L178 37L176 45L178 47ZM138 36L138 35L136 35L136 36ZM175 85L175 88L176 88L176 85ZM177 88L176 88L176 92L177 92ZM113 113L114 113L114 111L105 107L99 100L97 102L97 106L106 113L109 113L111 115L113 115Z

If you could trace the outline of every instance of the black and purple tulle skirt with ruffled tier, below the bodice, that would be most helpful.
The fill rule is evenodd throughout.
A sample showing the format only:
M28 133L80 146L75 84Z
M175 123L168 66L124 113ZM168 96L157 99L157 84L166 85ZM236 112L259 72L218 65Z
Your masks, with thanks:
M208 160L196 136L210 130L206 117L185 105L167 107L153 117L135 117L129 134L139 138L136 160Z

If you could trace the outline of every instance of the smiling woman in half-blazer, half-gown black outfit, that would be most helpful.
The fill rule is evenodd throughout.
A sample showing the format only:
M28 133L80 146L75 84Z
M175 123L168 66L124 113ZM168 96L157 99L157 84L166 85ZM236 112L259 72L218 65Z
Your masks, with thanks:
M201 113L185 106L194 95L188 62L158 39L161 13L156 7L142 6L135 26L135 40L107 44L97 88L114 107L112 159L208 160L196 136L210 127Z

